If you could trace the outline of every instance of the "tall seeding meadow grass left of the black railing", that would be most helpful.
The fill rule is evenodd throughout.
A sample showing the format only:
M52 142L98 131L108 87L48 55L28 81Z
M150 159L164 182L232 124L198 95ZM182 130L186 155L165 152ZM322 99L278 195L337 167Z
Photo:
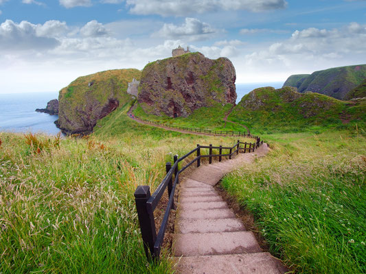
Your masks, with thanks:
M116 110L89 138L0 133L0 273L172 273L149 264L133 193L165 162L236 138L139 125Z

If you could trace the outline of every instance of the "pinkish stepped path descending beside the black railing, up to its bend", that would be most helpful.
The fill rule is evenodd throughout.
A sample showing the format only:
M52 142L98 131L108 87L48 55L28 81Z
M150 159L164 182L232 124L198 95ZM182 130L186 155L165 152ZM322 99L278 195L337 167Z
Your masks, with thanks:
M253 232L245 229L214 186L230 171L268 152L263 144L254 153L206 164L180 184L174 260L177 273L285 273L286 268L263 252Z

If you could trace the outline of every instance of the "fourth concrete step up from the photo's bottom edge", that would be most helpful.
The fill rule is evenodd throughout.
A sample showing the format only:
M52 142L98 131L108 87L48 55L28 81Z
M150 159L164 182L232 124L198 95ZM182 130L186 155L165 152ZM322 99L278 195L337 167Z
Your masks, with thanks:
M179 210L179 222L182 219L228 219L235 218L235 214L228 208L217 208L214 210Z

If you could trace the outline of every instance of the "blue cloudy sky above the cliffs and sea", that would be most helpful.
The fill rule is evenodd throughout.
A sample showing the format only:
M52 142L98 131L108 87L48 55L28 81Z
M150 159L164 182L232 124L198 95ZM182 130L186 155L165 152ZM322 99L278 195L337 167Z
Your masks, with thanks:
M143 69L179 45L229 58L237 84L366 64L366 1L0 0L0 93Z

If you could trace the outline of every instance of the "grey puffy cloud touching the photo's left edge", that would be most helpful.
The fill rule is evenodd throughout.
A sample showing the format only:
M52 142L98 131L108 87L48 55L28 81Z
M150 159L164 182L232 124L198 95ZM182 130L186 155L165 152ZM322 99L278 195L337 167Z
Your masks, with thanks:
M27 21L6 20L0 25L0 48L5 51L53 49L59 45L55 38L38 36L37 25Z

